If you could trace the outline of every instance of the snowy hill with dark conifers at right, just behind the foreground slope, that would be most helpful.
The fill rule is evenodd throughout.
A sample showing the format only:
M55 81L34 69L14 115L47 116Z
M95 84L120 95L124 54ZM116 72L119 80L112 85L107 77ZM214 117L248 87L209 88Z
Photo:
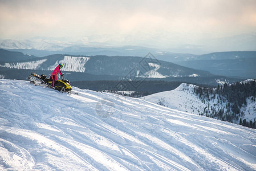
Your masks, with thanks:
M142 97L179 111L256 128L256 82L246 80L217 88L181 84L172 91Z

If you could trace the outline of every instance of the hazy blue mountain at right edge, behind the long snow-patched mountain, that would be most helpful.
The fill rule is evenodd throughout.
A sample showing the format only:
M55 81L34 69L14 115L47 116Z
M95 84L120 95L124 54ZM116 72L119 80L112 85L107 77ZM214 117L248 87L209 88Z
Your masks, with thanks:
M216 75L256 78L256 51L214 52L204 55L164 54L156 58Z

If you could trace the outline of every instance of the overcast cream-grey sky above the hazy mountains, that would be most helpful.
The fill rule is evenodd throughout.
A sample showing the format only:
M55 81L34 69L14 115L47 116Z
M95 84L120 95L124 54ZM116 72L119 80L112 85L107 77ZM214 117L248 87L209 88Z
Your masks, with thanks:
M256 30L256 1L0 0L0 38L84 37L165 47Z

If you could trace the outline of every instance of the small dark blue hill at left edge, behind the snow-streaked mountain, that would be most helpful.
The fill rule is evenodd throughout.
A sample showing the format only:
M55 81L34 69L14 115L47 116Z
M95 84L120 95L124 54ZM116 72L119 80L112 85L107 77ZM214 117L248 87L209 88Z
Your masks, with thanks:
M24 55L21 52L12 52L0 48L0 62L17 62L36 58L31 55Z

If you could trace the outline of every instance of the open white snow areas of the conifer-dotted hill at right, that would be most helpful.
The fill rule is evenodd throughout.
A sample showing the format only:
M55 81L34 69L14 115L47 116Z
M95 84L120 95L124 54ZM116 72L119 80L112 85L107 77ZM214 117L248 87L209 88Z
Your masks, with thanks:
M251 80L245 80L242 83L248 83ZM227 103L220 103L218 101L218 96L214 97L214 95L209 95L211 99L209 102L205 103L194 93L194 88L198 86L194 86L192 84L182 83L179 87L172 91L165 91L160 93L155 93L153 95L142 97L141 99L150 101L155 104L164 105L165 107L169 107L172 109L177 109L179 111L189 112L193 114L200 115L204 113L204 109L213 107L216 109L224 108L226 112ZM222 97L225 99L225 97ZM226 101L226 100L224 100ZM255 121L256 119L256 104L254 100L251 100L251 97L247 97L246 105L243 104L241 111L243 112L242 119L246 119L247 121ZM212 109L213 109L212 108ZM210 111L212 112L212 111ZM239 124L239 120L234 123Z

